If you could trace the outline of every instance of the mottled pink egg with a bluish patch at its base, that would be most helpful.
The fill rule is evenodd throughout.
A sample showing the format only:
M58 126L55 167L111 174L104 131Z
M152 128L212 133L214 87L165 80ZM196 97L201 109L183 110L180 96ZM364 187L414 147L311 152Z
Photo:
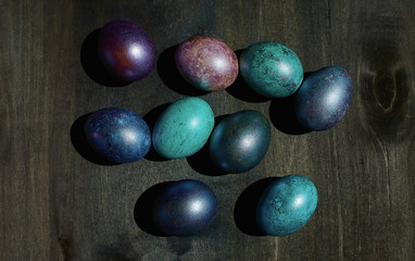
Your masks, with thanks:
M180 75L194 87L211 91L230 86L238 76L238 59L230 47L213 37L198 36L178 46Z

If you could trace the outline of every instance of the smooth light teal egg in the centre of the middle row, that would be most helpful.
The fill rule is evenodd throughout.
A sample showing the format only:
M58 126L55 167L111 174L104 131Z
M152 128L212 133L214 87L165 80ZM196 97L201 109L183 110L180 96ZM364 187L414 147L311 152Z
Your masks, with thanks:
M154 150L166 159L192 156L206 144L214 123L212 108L204 100L197 97L177 100L154 124Z

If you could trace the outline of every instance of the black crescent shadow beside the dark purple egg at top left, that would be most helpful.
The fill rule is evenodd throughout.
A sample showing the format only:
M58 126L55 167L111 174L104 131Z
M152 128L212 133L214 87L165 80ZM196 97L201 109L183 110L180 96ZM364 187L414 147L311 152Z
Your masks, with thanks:
M80 48L80 63L83 64L85 73L96 83L103 86L121 87L129 85L130 83L125 83L111 76L101 63L98 54L98 37L100 33L101 28L90 33L87 38L85 38Z

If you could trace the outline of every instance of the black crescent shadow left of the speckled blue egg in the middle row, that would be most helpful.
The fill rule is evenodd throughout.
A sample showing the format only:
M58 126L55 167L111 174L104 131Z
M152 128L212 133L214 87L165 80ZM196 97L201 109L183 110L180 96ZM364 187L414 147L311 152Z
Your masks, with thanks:
M110 162L98 154L89 145L87 136L85 135L85 122L91 113L78 117L71 127L71 141L75 150L84 157L84 159L99 165L118 165L117 163Z

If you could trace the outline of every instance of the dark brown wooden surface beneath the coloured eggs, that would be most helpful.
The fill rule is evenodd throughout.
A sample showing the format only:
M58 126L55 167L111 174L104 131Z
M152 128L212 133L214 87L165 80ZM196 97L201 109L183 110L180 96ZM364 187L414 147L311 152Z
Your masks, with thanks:
M95 53L99 28L115 18L146 28L159 53L156 70L127 86L108 78ZM413 0L0 0L0 259L415 260L414 26ZM252 96L241 80L193 91L172 53L196 35L237 52L281 42L305 72L343 66L353 103L335 128L301 133L290 99ZM264 113L273 129L262 163L221 176L203 153L105 165L80 135L97 109L124 107L153 122L185 96L205 99L216 116ZM259 236L250 199L266 177L289 174L314 181L317 210L295 234ZM158 184L181 178L211 186L218 215L198 236L159 236L148 203Z

